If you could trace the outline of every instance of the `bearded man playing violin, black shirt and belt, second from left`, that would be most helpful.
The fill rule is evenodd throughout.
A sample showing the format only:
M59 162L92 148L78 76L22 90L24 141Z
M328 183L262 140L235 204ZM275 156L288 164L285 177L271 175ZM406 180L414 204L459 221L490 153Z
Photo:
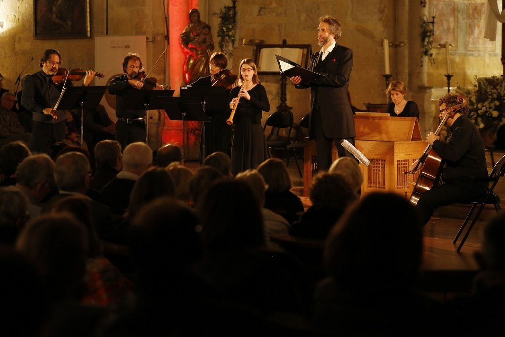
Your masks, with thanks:
M145 72L142 69L142 61L136 53L128 53L123 59L124 75L114 78L107 90L116 95L116 140L125 149L129 143L146 140L145 116L147 111L131 110L125 106L126 97L133 90L140 89L164 89L158 82L148 85ZM144 87L145 85L145 87Z

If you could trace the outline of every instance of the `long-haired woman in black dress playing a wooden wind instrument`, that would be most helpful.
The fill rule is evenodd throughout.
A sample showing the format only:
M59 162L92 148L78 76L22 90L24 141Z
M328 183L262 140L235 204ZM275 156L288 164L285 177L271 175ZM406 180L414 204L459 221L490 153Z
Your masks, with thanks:
M235 111L235 132L231 149L231 172L236 175L255 169L267 158L265 133L261 126L263 111L270 111L267 90L258 78L258 67L251 59L240 61L240 86L231 89L230 109Z

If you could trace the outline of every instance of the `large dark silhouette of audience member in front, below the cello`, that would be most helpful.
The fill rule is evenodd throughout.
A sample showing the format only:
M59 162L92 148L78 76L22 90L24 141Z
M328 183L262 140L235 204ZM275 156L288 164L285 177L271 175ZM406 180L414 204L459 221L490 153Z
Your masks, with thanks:
M314 295L314 327L356 336L438 331L438 307L415 287L422 246L422 227L408 200L373 193L352 206L326 240L330 277Z

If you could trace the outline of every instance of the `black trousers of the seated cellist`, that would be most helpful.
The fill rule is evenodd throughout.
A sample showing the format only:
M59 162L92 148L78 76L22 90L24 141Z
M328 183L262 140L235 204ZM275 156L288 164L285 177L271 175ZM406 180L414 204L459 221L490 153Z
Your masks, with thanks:
M473 181L452 180L435 186L419 199L416 210L421 223L425 225L440 206L468 203L486 196L487 188Z

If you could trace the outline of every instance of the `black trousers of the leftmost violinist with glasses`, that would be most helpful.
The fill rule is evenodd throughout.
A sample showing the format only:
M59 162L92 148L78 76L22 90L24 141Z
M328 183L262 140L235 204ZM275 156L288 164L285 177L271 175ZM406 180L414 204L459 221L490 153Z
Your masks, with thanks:
M32 123L31 152L48 154L54 143L65 140L65 121L56 124Z

